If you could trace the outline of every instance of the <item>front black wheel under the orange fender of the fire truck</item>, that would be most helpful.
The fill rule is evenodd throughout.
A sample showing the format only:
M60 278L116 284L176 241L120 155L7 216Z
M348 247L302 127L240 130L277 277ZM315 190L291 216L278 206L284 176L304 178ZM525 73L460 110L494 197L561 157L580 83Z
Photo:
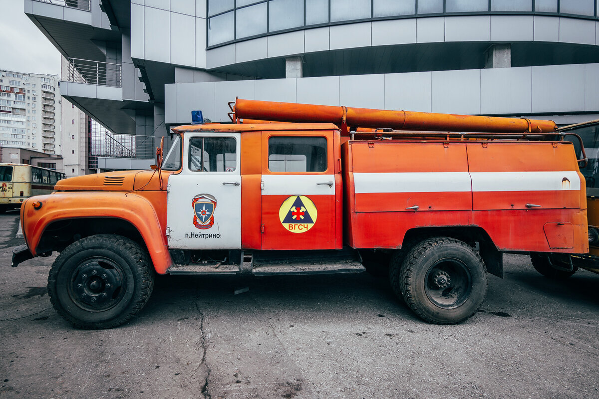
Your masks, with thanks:
M140 245L98 234L67 246L48 276L50 301L62 318L84 329L113 328L147 303L154 272Z

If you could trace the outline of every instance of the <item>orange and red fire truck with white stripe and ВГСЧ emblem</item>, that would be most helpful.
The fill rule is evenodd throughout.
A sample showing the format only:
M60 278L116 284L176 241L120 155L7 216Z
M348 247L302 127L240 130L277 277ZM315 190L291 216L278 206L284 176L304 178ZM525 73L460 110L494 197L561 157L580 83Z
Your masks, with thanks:
M427 322L476 313L503 252L588 252L585 179L552 121L237 99L173 129L154 170L58 182L21 209L13 266L60 252L50 299L76 327L146 304L154 272L299 275L389 256Z

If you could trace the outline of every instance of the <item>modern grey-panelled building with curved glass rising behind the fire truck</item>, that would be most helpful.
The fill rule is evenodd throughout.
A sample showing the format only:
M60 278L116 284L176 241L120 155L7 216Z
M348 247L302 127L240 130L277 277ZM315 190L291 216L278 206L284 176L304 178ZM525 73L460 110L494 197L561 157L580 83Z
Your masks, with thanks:
M595 0L25 0L68 59L61 93L153 137L236 97L599 118Z

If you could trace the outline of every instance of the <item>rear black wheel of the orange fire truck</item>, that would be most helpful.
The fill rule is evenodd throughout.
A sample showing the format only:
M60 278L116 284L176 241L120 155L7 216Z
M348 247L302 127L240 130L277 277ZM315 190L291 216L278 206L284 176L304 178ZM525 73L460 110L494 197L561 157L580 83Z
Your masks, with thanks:
M488 286L479 254L449 237L420 242L401 265L391 264L389 275L395 294L431 324L455 324L472 317L485 300Z

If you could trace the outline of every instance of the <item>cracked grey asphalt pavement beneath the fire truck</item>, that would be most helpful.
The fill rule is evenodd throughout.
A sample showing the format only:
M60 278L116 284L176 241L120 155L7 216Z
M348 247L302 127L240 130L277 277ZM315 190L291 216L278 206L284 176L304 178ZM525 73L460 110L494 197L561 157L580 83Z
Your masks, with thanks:
M56 255L10 267L17 223L0 215L0 398L599 398L585 270L553 282L506 255L479 313L447 326L366 273L158 276L132 321L86 331L50 304Z

